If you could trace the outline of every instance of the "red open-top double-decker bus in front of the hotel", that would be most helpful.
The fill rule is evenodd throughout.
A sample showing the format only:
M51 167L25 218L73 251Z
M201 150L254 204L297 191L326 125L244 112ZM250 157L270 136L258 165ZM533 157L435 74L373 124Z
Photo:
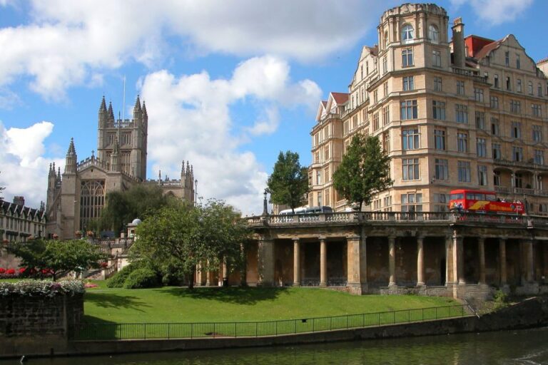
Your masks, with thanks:
M452 190L449 200L450 210L463 212L499 213L522 215L525 205L519 200L499 199L494 191Z

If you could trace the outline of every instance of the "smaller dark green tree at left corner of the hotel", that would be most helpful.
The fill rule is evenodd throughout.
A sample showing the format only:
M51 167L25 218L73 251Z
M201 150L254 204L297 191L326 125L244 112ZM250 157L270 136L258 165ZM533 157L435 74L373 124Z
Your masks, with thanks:
M280 151L272 175L268 177L270 200L291 207L303 205L308 192L308 168L299 163L299 154Z

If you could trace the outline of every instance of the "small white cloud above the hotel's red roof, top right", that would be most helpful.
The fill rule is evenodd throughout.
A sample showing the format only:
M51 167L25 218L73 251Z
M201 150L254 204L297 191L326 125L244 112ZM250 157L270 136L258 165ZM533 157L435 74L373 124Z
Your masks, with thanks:
M468 4L480 21L492 26L514 21L534 0L451 0L455 7Z

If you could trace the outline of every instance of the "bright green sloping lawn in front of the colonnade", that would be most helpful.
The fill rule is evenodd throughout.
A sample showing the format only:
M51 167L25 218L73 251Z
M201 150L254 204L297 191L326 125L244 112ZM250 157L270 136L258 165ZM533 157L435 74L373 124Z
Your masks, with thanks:
M458 304L412 295L350 295L312 288L88 289L86 322L247 322Z

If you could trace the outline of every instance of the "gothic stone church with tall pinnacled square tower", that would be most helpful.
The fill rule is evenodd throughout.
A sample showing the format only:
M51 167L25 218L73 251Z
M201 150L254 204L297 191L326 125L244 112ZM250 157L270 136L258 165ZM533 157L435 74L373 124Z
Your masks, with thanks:
M148 113L139 97L132 119L114 118L112 103L105 98L98 111L97 155L78 162L73 139L68 145L64 173L50 166L46 200L46 237L76 237L101 215L108 192L125 191L133 185L158 185L166 195L194 202L193 167L183 161L180 179L146 180Z

